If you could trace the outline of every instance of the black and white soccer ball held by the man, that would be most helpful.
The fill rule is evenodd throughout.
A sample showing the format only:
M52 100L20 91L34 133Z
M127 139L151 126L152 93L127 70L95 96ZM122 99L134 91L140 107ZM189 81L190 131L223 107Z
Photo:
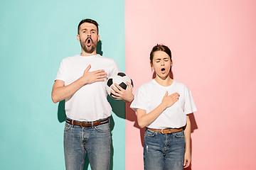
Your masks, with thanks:
M119 72L117 74L112 74L108 79L107 79L107 83L106 83L106 89L107 89L107 94L110 95L110 97L114 96L114 94L110 93L111 90L111 86L116 83L119 86L122 87L122 89L127 89L127 83L129 82L130 84L132 84L133 87L133 83L132 83L132 79L130 79L126 74L124 74L123 72ZM113 98L113 97L112 97ZM118 98L114 98L115 100L121 100Z

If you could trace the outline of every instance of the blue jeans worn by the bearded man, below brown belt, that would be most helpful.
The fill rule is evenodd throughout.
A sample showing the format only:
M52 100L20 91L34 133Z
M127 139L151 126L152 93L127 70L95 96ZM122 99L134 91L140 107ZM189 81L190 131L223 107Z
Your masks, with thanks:
M65 123L64 155L68 170L82 170L87 154L92 170L110 169L110 123L82 128Z

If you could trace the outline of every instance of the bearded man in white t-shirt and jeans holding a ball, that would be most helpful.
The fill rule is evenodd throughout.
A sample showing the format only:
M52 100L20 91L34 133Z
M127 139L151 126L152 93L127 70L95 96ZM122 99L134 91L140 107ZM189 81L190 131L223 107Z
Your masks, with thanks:
M100 40L96 21L80 21L77 39L82 52L63 59L52 91L54 103L65 99L65 166L82 169L87 154L92 170L110 169L112 108L107 101L105 81L119 72L119 68L114 60L96 54ZM133 100L131 84L128 83L127 90L115 85L117 88L112 88L112 93L117 98Z

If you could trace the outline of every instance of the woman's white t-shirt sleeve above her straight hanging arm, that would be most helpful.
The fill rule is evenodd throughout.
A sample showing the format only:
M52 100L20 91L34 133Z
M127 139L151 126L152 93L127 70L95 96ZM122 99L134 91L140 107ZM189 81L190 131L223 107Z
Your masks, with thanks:
M191 94L191 91L188 88L186 88L184 113L188 115L195 111L197 111L197 109L196 109L196 104L193 101L193 96Z

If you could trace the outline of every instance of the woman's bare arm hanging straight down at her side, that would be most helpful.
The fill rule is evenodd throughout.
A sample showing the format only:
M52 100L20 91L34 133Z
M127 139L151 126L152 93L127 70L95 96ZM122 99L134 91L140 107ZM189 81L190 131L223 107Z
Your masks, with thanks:
M188 115L186 115L186 127L184 130L184 137L186 142L186 149L183 166L184 168L187 168L191 164L191 121Z

